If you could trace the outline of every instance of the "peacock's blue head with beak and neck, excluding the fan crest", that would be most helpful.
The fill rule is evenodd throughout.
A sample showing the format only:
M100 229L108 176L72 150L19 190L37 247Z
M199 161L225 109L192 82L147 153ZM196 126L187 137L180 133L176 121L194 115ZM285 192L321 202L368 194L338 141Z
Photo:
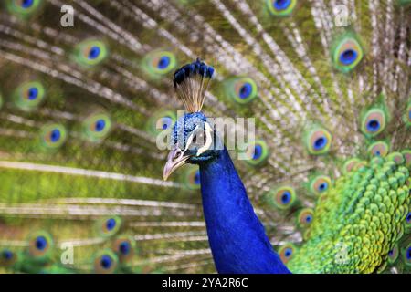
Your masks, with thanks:
M207 136L207 131L212 131ZM195 137L201 136L198 143ZM206 138L208 137L208 138ZM213 139L213 141L207 141ZM290 273L269 242L225 147L202 112L174 125L164 177L185 163L200 167L208 241L219 273ZM205 151L200 151L208 145Z

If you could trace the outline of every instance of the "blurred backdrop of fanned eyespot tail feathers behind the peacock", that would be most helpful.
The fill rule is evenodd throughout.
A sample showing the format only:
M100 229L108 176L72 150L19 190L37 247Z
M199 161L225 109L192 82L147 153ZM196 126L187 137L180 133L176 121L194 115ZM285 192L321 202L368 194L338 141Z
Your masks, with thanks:
M0 272L216 272L197 167L164 182L156 146L197 57L216 69L205 114L256 119L249 160L231 156L271 244L300 245L344 163L374 155L359 125L382 93L396 111L378 147L410 145L409 7L375 2L2 1ZM346 36L351 68L333 59Z

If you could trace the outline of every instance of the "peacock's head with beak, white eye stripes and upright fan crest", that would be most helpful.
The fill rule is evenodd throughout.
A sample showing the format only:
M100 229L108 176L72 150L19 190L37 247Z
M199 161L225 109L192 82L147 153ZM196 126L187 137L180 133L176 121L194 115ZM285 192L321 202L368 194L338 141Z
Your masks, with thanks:
M186 163L199 164L213 160L222 148L217 142L213 125L201 112L213 73L214 68L205 65L198 58L174 73L174 88L188 112L174 124L171 134L172 150L164 166L164 180Z

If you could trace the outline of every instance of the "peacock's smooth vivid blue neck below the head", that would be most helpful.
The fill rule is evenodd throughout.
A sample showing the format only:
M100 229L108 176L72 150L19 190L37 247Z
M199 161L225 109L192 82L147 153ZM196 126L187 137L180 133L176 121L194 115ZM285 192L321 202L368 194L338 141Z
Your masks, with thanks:
M269 243L228 151L200 163L200 173L205 224L217 271L290 273Z

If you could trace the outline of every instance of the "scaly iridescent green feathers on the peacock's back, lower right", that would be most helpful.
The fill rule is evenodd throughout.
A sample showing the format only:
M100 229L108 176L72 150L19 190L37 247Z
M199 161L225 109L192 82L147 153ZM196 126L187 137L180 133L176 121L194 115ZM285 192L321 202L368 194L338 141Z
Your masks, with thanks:
M398 153L399 154L399 153ZM321 194L305 244L288 263L296 273L372 273L405 235L411 162L375 159Z

